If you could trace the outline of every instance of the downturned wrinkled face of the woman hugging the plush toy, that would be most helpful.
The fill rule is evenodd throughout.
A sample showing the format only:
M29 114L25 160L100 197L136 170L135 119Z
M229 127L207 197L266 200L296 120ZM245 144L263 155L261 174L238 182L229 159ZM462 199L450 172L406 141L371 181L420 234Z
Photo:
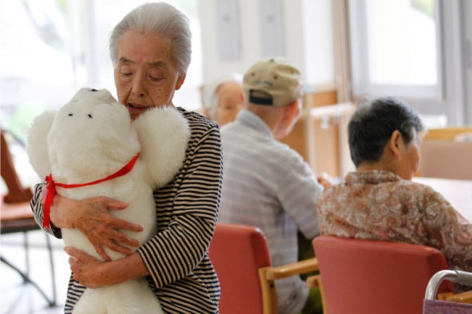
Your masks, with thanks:
M116 91L133 120L149 108L173 106L174 92L184 81L185 73L178 71L170 39L135 31L120 37Z

